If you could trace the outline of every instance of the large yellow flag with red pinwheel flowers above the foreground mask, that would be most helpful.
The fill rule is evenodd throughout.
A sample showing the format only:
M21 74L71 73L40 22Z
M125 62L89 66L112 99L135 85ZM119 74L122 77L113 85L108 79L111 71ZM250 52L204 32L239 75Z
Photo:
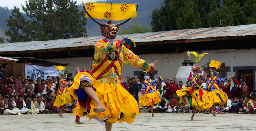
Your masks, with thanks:
M137 17L136 4L85 3L86 11L97 19L124 20ZM90 18L86 14L86 18Z

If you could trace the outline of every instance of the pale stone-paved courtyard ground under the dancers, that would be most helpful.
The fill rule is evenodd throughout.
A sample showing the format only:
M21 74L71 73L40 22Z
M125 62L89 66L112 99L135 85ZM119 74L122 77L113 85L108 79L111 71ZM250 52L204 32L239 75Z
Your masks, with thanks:
M194 120L190 121L192 114L167 114L139 113L135 121L128 123L113 124L112 131L256 131L256 115L242 114L195 114ZM80 118L84 124L76 124L75 116L63 113L64 118L58 114L37 115L0 115L1 131L104 131L104 123L96 120L89 121L87 117Z

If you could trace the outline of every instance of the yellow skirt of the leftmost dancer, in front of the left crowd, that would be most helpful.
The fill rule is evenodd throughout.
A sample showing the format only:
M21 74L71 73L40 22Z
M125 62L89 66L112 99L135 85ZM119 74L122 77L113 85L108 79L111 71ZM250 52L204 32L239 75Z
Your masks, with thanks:
M71 96L69 93L57 95L55 102L53 103L56 107L61 107L63 105L68 105L72 102Z

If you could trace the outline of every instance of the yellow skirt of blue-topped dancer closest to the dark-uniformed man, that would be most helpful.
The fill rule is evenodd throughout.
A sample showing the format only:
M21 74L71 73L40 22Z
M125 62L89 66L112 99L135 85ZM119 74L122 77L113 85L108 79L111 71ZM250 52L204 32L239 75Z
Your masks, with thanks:
M147 93L142 95L139 95L139 106L154 106L157 103L160 103L160 92L155 91L153 93Z

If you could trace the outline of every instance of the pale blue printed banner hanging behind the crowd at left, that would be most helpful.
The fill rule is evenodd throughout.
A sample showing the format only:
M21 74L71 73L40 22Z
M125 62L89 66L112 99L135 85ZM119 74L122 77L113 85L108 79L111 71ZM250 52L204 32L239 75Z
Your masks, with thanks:
M60 72L64 73L64 69ZM47 76L54 76L55 78L59 76L59 72L54 66L39 66L39 65L25 65L25 76L30 76L32 80L36 81L38 77L41 79L47 79Z

